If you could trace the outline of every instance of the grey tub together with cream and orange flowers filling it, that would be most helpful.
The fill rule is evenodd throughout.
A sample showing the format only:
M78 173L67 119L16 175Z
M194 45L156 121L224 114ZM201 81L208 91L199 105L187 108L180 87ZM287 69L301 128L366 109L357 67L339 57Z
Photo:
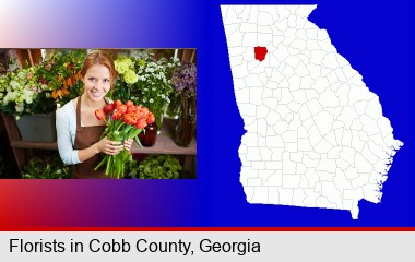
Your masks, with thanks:
M57 53L0 76L0 111L16 119L26 141L56 140L55 111L81 93L82 51Z

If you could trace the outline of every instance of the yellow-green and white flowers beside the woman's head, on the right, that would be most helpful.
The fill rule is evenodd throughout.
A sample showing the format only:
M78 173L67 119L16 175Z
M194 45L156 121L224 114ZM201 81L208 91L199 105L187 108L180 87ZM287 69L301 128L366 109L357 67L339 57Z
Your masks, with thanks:
M173 92L170 76L179 66L178 59L157 58L149 51L115 60L119 74L111 97L131 99L147 107L157 116L156 124L162 126L163 107L170 103Z

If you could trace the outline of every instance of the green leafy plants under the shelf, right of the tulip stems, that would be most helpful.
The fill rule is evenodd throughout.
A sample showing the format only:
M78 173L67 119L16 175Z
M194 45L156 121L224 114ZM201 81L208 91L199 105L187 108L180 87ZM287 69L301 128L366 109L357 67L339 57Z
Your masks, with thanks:
M177 179L182 167L170 155L150 155L141 162L130 162L127 170L132 177L140 179Z

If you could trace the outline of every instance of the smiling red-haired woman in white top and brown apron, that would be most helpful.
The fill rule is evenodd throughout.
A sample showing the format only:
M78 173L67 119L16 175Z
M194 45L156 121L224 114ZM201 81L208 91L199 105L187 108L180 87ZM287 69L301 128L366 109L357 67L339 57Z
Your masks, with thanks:
M130 151L132 140L120 142L99 140L105 122L95 117L95 110L108 103L105 96L114 85L116 70L108 53L90 52L81 69L84 92L67 103L56 114L56 129L60 157L67 165L74 165L72 178L110 178L105 168L94 170L100 162L100 153L116 155L122 148Z

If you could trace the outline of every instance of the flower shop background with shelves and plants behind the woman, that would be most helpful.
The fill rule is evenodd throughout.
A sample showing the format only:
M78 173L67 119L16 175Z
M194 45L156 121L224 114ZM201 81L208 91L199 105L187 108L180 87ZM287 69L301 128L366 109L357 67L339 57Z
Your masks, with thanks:
M105 50L118 72L108 96L156 115L140 134L143 147L134 143L124 178L195 178L195 49ZM86 51L1 50L0 136L11 146L2 146L0 178L70 177L71 167L56 151L54 112L82 93L79 71Z

